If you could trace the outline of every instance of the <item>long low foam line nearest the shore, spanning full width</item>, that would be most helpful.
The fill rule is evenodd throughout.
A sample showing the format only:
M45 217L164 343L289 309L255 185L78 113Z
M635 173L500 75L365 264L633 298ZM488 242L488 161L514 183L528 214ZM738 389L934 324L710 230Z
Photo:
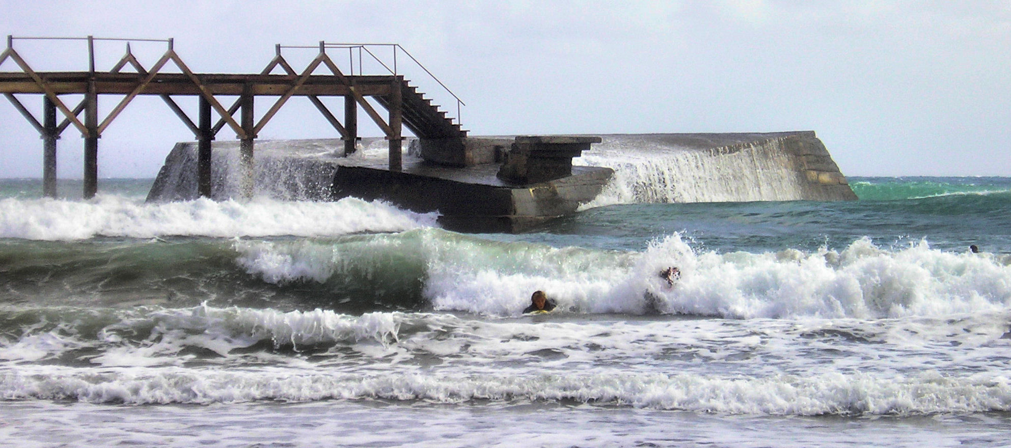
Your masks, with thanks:
M3 399L75 399L129 405L259 400L395 399L566 401L706 413L929 415L1011 410L1011 384L1001 375L876 377L831 373L721 378L695 374L551 374L537 376L381 375L195 369L34 367L0 374ZM32 372L30 370L38 370Z

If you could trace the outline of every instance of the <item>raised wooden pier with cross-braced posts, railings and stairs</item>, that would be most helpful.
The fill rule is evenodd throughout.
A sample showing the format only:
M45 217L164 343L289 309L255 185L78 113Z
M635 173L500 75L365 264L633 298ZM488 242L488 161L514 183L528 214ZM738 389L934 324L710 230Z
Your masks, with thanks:
M36 72L14 49L15 39L79 39L87 40L89 68L81 72ZM95 70L94 42L96 40L126 41L126 53L109 71ZM150 68L145 68L130 51L130 41L164 41L168 50ZM369 51L370 46L388 46L393 50L393 67L390 68ZM318 49L318 55L301 72L297 72L282 56L283 49ZM350 73L341 71L328 51L355 49L359 61L364 53L375 59L389 73L380 75L354 74L354 59L351 59ZM7 49L0 53L0 66L8 60L20 69L18 72L0 72L0 93L21 112L28 122L38 130L43 141L43 194L55 197L57 176L57 140L70 125L80 130L84 138L84 197L91 198L98 190L98 140L109 124L137 95L160 96L177 116L193 132L198 141L198 179L202 196L210 195L211 141L224 126L236 132L241 141L242 163L244 167L244 193L253 192L253 153L257 135L284 104L294 96L306 97L319 113L333 125L344 141L345 154L355 151L358 140L359 108L376 123L389 142L389 170L400 171L402 127L406 126L420 139L453 140L467 135L460 127L459 120L447 117L446 112L419 92L418 89L398 74L397 52L418 61L398 44L369 43L327 43L320 41L314 47L275 47L275 56L266 68L257 74L214 74L193 73L173 49L173 39L119 39L66 37L14 37L7 36ZM424 69L424 66L420 67ZM169 72L175 66L178 72ZM282 74L274 74L282 71ZM321 73L316 73L321 72ZM428 69L425 72L431 75ZM441 81L432 77L445 88ZM446 89L463 105L452 91ZM15 95L40 95L42 119L39 120ZM84 99L74 105L62 100L63 95L83 95ZM121 97L116 106L105 117L98 115L98 101L101 95ZM197 120L173 99L176 96L196 96L199 98ZM238 97L225 106L219 97ZM343 121L338 119L320 100L323 97L344 97ZM254 105L257 97L270 97L267 111L255 118ZM369 98L373 99L387 113L384 117ZM82 120L80 115L84 113ZM216 121L212 114L216 114ZM238 114L238 116L237 116ZM63 117L61 122L58 116Z

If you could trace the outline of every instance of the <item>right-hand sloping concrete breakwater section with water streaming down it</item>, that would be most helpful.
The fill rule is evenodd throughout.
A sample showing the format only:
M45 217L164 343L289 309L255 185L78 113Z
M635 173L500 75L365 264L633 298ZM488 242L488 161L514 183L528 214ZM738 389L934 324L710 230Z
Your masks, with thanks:
M813 131L606 135L574 162L616 171L588 206L856 199Z

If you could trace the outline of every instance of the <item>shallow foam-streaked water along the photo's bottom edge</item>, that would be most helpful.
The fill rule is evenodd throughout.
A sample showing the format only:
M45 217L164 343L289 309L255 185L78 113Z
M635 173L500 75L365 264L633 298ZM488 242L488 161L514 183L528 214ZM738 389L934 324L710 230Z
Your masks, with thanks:
M999 414L905 419L728 416L554 404L444 406L327 400L211 407L122 407L7 401L0 437L10 446L158 445L190 448L292 445L877 446L999 445ZM419 424L423 422L424 424ZM531 424L536 422L536 424ZM676 431L672 431L676 428ZM925 443L929 441L929 443Z

